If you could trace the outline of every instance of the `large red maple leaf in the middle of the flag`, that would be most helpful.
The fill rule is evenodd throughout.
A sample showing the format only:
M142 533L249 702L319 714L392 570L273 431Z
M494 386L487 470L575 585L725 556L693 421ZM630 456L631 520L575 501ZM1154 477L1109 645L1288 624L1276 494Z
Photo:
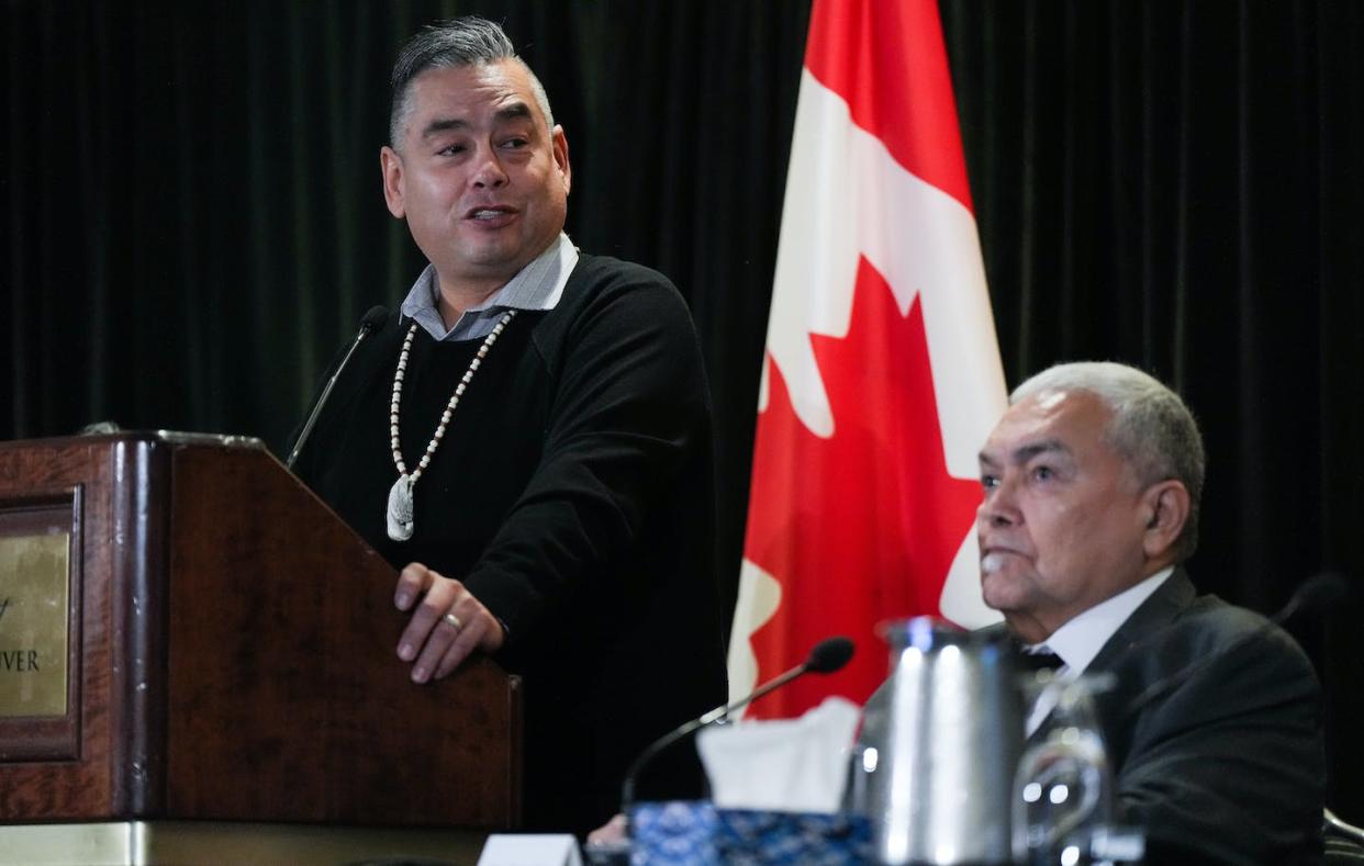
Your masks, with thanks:
M810 340L833 416L828 439L801 423L767 360L745 556L777 580L782 603L752 637L757 679L802 660L788 657L797 636L847 634L858 652L837 674L758 701L760 717L799 715L827 694L865 702L888 657L870 623L938 612L981 502L974 479L947 471L918 296L902 315L862 258L847 335Z

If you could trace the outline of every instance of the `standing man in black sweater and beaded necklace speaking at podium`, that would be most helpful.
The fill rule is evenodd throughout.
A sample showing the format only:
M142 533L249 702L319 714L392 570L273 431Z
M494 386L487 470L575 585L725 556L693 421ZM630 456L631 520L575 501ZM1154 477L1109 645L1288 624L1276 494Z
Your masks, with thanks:
M525 678L525 825L585 832L638 750L726 698L690 315L662 274L569 241L567 139L491 22L402 49L381 168L430 266L296 466L402 569L415 687L471 653ZM415 760L442 736L411 734ZM641 787L696 795L698 773L679 757Z

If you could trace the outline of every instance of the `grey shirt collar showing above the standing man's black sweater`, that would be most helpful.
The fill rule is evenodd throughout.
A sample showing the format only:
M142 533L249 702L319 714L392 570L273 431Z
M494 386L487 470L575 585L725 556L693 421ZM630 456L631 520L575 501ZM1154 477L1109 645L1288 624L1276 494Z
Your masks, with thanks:
M578 251L569 236L559 232L544 252L517 271L516 277L476 307L469 307L446 329L441 319L435 265L427 265L402 300L402 315L421 326L436 341L479 340L487 337L507 310L554 310L563 295L563 286L578 263Z

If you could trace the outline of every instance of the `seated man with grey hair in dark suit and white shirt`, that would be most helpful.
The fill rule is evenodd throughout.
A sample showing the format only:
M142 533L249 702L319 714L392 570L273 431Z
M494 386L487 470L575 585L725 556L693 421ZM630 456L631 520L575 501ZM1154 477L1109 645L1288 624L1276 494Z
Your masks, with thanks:
M1028 379L981 451L985 603L1061 676L1113 675L1099 727L1147 862L1319 862L1319 686L1282 630L1195 593L1203 472L1192 415L1144 372Z

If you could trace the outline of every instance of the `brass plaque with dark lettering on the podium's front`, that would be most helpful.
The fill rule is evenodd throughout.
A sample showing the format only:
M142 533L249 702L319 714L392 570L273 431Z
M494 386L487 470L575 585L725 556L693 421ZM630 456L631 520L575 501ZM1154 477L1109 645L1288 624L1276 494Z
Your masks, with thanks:
M71 535L0 537L0 719L65 716Z

